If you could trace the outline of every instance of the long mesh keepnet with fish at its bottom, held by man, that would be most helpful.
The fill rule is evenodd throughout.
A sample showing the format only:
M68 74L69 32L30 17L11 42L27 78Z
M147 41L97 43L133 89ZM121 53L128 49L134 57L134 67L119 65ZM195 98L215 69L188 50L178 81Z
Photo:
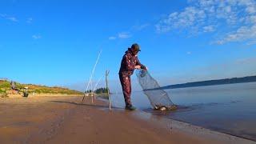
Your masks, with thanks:
M158 82L151 77L148 70L136 70L139 84L142 86L144 94L150 100L154 110L176 110L177 106L171 102L169 95L162 90Z

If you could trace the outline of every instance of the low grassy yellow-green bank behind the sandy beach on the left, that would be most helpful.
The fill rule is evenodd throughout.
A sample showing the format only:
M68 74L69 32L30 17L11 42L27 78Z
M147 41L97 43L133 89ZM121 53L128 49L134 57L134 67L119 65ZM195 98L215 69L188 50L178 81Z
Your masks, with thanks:
M28 92L35 94L83 94L77 90L70 90L58 86L38 86L33 84L22 84L18 82L16 82L16 86L18 89L28 87ZM7 90L10 90L10 82L4 79L0 80L0 94L5 94Z

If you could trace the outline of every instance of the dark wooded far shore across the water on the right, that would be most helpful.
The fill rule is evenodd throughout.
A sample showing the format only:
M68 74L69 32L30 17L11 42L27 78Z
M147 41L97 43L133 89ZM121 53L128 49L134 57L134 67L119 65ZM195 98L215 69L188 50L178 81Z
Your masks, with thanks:
M256 76L248 76L248 77L242 77L242 78L225 78L225 79L216 79L216 80L201 81L201 82L187 82L187 83L170 85L170 86L162 86L161 89L177 89L177 88L196 87L196 86L213 86L213 85L224 85L224 84L242 83L242 82L256 82Z

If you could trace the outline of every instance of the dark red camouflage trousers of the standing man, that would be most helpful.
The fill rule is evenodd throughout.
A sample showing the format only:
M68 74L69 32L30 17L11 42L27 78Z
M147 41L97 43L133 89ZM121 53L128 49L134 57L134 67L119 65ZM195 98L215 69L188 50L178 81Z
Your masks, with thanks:
M131 83L130 83L130 75L122 75L119 74L119 79L122 85L122 94L125 98L126 106L131 106L130 102L130 93L131 93Z

